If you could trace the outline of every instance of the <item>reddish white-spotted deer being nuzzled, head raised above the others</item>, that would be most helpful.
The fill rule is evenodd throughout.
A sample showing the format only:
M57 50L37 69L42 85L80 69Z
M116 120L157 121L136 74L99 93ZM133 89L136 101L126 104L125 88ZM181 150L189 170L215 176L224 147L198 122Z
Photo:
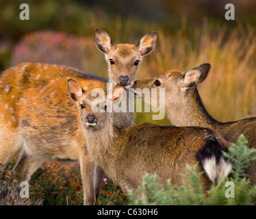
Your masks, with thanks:
M132 85L138 63L154 49L156 37L155 33L147 34L138 47L113 46L110 36L96 29L97 47L115 62L109 64L110 82ZM84 90L107 90L107 79L54 64L23 63L1 74L0 163L6 164L13 155L21 153L14 170L28 181L42 161L78 159L86 194L84 203L93 205L99 195L103 172L88 157L79 111L67 93L69 78L79 81ZM123 114L114 115L116 127L131 125L133 117L127 120Z

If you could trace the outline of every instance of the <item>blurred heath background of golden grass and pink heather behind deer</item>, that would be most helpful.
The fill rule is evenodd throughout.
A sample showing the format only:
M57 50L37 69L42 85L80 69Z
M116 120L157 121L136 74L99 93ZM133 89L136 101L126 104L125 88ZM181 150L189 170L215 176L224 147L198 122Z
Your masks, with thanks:
M137 44L157 31L157 47L144 57L138 79L171 68L188 70L210 62L199 87L209 113L220 121L256 115L255 0L25 0L29 21L21 21L21 1L0 0L0 69L20 62L64 64L107 77L103 54L94 45L94 29L113 42ZM225 20L225 5L235 6L235 21ZM138 113L136 123L152 122Z

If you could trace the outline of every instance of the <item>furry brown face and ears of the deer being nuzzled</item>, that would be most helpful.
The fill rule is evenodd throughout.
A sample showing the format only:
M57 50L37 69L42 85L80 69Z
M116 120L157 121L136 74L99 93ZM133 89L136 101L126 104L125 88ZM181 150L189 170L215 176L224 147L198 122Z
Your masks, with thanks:
M138 66L134 62L142 62L142 57L148 55L155 49L157 33L151 32L141 38L138 46L134 44L112 44L110 36L102 29L95 30L95 43L98 49L105 54L105 59L109 68L110 81L113 87L118 84L118 77L128 76L129 85L132 86L136 80ZM110 60L114 64L110 64Z

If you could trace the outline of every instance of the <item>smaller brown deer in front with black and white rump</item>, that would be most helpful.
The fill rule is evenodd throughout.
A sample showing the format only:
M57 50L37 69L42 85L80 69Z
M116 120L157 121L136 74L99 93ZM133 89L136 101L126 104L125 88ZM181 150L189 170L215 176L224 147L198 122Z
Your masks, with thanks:
M120 96L122 89L114 88L113 99ZM136 190L146 172L157 173L162 185L169 178L181 185L180 174L188 173L185 165L199 162L199 170L207 174L202 177L203 188L207 190L210 181L220 185L231 170L231 164L222 157L228 143L216 131L150 123L118 129L112 113L107 112L105 96L96 102L92 92L84 91L73 79L68 80L68 92L79 107L88 153L124 192ZM99 112L92 110L95 103L99 104Z

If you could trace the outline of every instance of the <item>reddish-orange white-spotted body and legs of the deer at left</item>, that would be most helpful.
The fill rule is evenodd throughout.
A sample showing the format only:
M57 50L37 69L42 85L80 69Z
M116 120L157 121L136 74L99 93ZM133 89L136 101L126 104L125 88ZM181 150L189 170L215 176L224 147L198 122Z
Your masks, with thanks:
M93 204L97 196L91 191L94 164L86 151L79 110L67 88L72 78L84 90L106 90L106 79L90 77L52 64L23 63L5 70L0 77L0 162L21 151L15 170L28 180L43 160L79 159L88 184L86 202Z

